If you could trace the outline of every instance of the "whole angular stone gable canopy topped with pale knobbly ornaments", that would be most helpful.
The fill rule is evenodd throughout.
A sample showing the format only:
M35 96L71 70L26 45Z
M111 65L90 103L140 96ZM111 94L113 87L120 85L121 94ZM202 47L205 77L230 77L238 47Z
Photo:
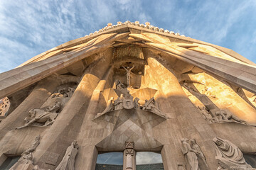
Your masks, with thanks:
M256 64L233 50L188 38L163 28L126 21L111 23L90 35L70 40L0 74L0 98L107 48L148 47L192 64L204 72L256 93Z

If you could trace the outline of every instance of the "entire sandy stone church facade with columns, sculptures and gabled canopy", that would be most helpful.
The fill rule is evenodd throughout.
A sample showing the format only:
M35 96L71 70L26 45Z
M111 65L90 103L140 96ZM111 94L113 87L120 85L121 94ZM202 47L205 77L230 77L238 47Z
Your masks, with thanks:
M256 169L256 64L138 21L109 23L0 74L0 169ZM107 166L105 166L107 169Z

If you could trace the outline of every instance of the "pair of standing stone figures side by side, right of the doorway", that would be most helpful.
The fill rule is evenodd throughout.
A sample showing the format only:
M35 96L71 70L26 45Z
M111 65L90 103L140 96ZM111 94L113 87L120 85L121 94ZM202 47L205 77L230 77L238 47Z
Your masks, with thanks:
M207 170L206 157L201 148L196 143L196 140L188 140L183 138L181 140L181 151L185 156L187 170Z

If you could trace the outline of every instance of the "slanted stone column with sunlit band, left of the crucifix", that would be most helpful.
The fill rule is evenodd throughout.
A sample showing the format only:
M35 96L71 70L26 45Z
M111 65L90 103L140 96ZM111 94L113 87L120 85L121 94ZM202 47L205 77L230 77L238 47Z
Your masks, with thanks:
M90 67L85 70L85 74L83 75L80 84L78 84L73 96L70 98L70 101L68 101L63 108L63 111L58 115L58 118L50 127L46 135L42 137L41 145L38 146L34 153L34 162L42 169L54 169L58 166L61 159L58 159L54 165L46 164L49 155L51 153L57 154L62 158L65 154L65 149L67 149L78 136L85 113L89 107L92 93L109 68L111 61L111 55L109 54L112 54L112 50L104 52L103 55L105 56L94 64L90 64ZM79 140L78 145L80 148L76 159L80 157L80 150L82 149ZM92 148L92 150L95 149ZM83 169L83 167L81 166L80 169Z

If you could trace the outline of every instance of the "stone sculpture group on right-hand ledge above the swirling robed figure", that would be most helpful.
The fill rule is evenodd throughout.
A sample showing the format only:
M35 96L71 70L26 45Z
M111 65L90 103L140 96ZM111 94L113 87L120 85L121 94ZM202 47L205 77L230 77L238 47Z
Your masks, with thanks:
M210 113L207 111L206 107L199 107L198 111L203 115L203 118L208 120L209 123L228 123L228 122L236 122L236 123L242 123L245 125L249 125L245 120L241 120L237 116L233 115L229 111L219 110L215 111L213 115L210 115Z

